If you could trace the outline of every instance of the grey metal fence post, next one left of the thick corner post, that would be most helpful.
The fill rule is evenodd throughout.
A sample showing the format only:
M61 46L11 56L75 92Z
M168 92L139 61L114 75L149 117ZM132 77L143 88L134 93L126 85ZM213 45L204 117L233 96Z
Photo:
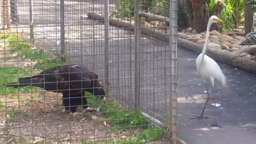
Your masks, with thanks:
M141 17L139 12L141 11L141 0L135 0L134 6L134 18L135 18L135 109L141 108Z

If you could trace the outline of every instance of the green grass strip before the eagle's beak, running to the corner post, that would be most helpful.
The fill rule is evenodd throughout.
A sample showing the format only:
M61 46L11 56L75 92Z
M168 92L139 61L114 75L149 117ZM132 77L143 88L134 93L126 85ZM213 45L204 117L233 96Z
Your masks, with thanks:
M164 138L166 127L157 129L152 126L146 121L146 118L142 116L141 111L127 111L126 108L117 106L110 98L108 98L106 103L102 104L101 100L94 97L91 93L86 92L85 95L89 105L92 105L94 108L100 107L100 112L102 113L101 117L109 118L108 123L113 129L125 130L140 128L139 132L126 139L118 141L111 140L102 143L145 142Z

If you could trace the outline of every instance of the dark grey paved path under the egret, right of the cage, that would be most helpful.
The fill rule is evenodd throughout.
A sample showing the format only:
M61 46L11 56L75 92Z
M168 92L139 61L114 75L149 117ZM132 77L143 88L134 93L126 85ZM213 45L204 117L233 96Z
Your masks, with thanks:
M179 49L179 131L181 139L189 144L253 144L256 141L256 75L217 62L227 76L230 96L224 98L219 89L214 89L205 116L209 119L188 119L199 115L205 102L205 86L197 75L197 54ZM213 94L212 93L212 94ZM218 107L218 123L222 129L211 129L205 124L213 122L213 105Z

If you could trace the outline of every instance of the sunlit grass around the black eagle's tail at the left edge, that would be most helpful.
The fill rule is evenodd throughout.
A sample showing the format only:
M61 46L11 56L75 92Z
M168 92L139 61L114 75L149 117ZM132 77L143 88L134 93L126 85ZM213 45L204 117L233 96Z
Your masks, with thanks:
M31 61L36 62L35 68L39 70L44 70L54 66L60 66L65 63L65 59L54 58L48 52L38 49L31 49L29 44L24 41L22 35L14 35L9 31L9 33L0 33L0 38L4 39L6 43L9 44L7 49L12 52L17 52L16 57L28 58ZM63 57L63 56L62 56ZM27 77L31 75L31 69L26 68L6 68L0 67L0 84L17 82L18 77ZM36 87L20 87L18 89L13 87L0 86L0 93L7 93L8 97L17 98L17 93L22 92L33 92Z

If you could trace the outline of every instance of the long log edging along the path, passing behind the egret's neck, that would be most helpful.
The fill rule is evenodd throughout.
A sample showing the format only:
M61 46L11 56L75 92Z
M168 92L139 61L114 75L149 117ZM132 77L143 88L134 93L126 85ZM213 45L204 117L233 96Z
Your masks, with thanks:
M102 22L104 20L104 14L102 13L87 13L87 15L90 19L93 20L99 20ZM134 21L110 18L109 23L112 26L134 30ZM157 29L143 27L141 28L141 33L159 39L163 42L169 42L169 36L163 33L159 33L159 30ZM203 49L203 45L188 41L183 38L178 38L178 46L182 47L183 49L194 51L198 54L201 53ZM212 49L209 47L206 53L214 60L219 60L223 63L227 63L228 65L256 73L256 61L239 57L239 54L241 54L239 52L236 54L226 50Z

